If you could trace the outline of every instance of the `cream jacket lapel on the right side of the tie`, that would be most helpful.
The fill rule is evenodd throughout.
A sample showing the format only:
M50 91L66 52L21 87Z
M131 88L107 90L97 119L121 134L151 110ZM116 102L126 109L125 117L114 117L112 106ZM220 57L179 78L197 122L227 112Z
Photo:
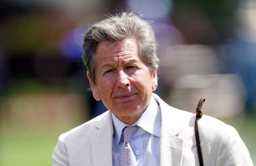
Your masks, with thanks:
M181 118L159 96L153 94L161 109L160 166L181 166L183 139L178 134L183 130Z

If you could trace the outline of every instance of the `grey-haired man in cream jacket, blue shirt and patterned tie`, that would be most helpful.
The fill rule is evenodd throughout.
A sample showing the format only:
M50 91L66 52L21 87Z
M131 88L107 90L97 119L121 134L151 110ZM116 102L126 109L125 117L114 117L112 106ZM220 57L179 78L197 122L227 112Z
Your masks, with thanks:
M109 110L62 134L53 166L198 166L195 114L152 93L158 58L150 24L133 13L109 16L89 28L83 48L92 94ZM204 165L253 165L231 126L204 116L198 130Z

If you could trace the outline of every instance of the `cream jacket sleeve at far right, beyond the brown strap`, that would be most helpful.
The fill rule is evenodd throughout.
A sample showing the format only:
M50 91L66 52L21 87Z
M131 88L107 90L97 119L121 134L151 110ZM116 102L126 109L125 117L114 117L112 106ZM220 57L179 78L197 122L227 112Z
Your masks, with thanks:
M236 129L232 126L229 127L227 133L220 140L216 166L253 166L246 145Z

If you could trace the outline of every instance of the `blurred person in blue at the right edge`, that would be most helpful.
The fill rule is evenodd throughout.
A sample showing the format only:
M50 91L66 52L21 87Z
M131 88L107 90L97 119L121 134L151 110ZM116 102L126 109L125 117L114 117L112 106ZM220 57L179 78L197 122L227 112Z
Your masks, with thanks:
M235 73L244 83L245 110L256 112L256 2L242 1L236 14L236 26L222 43L222 72Z

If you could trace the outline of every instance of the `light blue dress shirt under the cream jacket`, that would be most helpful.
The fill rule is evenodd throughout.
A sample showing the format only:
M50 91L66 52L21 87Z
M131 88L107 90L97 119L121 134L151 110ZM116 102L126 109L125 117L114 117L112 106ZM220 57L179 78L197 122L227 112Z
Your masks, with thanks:
M120 153L124 144L125 126L130 126L120 121L112 114L114 136L112 141L113 166L119 165ZM140 128L130 140L132 151L136 157L138 166L160 165L160 127L161 112L156 100L152 97L148 108L140 118L132 125Z

